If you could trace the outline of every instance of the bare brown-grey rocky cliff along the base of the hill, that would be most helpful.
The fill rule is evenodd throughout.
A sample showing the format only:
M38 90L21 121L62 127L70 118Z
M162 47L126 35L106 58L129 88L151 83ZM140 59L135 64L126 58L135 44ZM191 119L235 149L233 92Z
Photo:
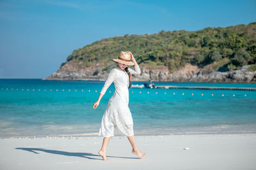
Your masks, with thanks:
M99 65L99 64L98 64ZM77 68L72 61L42 80L106 80L107 71L101 71L97 64L91 67ZM221 68L214 71L209 64L203 68L193 66L189 63L185 67L170 73L168 67L157 66L148 68L140 64L141 74L134 74L132 81L190 81L190 82L230 82L230 83L256 83L256 71L247 71L248 65L236 71L223 71ZM131 68L133 68L131 66Z

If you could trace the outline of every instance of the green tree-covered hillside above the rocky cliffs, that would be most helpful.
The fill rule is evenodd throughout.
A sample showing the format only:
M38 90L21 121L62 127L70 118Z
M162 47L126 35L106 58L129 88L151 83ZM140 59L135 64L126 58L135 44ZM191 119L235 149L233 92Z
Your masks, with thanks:
M256 62L256 22L200 31L160 31L104 38L74 50L67 62L73 60L79 67L100 63L102 71L109 71L115 66L111 60L121 51L132 52L138 64L147 64L149 68L168 66L170 73L187 62L198 67L214 62L215 71L220 67L232 71ZM250 70L255 71L255 65Z

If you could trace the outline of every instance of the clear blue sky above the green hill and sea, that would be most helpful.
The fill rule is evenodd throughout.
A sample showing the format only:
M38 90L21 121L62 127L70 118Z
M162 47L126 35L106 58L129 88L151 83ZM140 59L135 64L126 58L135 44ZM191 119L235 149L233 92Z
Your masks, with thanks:
M255 18L256 1L246 0L0 0L0 78L45 78L74 49L103 38L197 31Z

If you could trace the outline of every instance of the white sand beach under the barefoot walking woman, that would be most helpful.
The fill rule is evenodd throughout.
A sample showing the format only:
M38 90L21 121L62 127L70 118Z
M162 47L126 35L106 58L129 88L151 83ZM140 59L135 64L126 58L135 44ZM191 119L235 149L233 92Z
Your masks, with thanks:
M0 169L256 169L256 134L135 136L143 159L124 136L0 139ZM184 148L188 148L184 150Z

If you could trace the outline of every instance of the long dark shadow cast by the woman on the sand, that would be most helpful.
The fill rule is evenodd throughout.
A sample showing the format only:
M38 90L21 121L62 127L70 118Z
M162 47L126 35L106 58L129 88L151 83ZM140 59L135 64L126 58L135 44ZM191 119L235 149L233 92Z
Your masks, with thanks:
M46 150L43 148L15 148L15 149L26 150L28 152L33 152L36 154L39 154L38 151L42 151L42 152L46 152L46 153L65 155L65 156L69 156L69 157L83 157L83 158L87 158L87 159L102 160L100 155L95 155L93 153L65 152L65 151L60 151L60 150ZM92 157L100 157L100 159L92 158ZM107 157L123 158L123 159L140 159L140 158L133 158L133 157L114 157L114 156L107 156Z

